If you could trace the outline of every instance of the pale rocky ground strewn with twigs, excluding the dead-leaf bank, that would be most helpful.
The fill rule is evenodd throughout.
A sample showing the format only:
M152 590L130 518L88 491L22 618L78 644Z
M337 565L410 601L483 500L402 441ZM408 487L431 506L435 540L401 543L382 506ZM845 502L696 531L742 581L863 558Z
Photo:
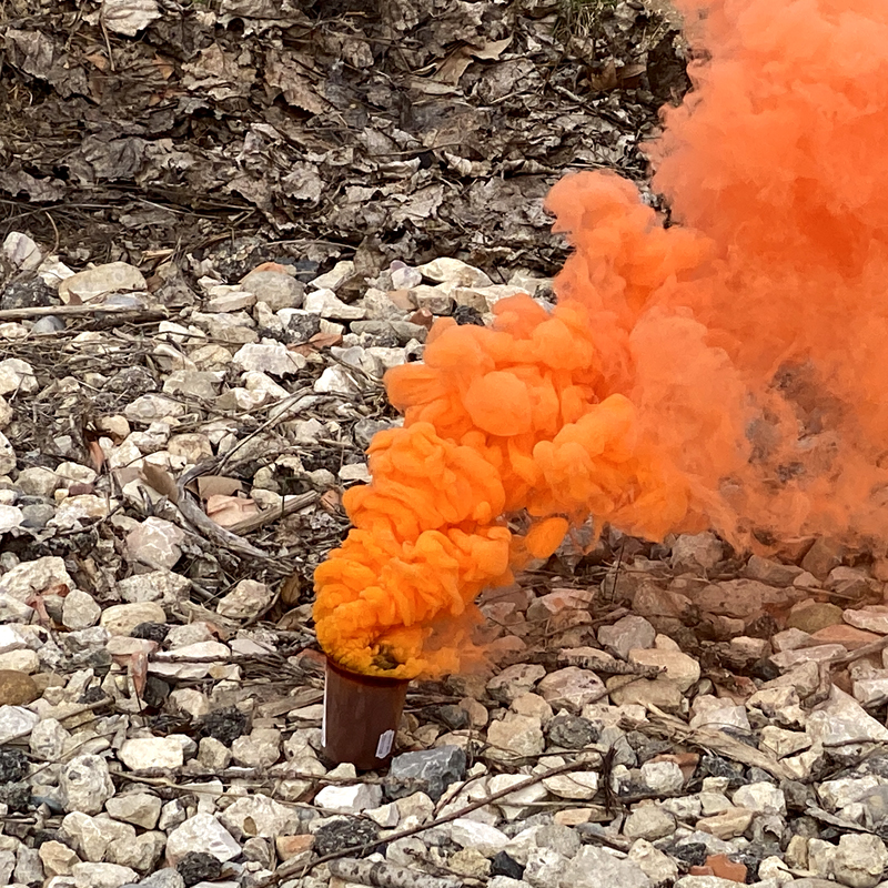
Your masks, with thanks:
M202 261L173 312L3 254L52 304L0 324L0 884L881 881L888 564L829 541L565 547L483 601L492 673L412 687L387 773L324 761L307 584L381 376L547 279Z

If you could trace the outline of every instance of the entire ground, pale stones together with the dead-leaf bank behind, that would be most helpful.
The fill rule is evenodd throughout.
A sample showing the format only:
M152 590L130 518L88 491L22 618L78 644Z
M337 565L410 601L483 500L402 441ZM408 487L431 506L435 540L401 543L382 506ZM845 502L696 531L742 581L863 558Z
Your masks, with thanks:
M320 751L311 574L381 377L551 301L563 171L643 183L668 9L3 14L0 885L881 882L888 565L829 541L565 548L385 774Z

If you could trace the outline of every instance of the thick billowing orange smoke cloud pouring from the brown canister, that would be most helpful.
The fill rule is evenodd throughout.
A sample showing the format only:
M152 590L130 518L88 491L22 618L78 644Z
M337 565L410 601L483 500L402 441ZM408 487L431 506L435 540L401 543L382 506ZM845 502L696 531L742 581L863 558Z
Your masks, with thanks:
M557 307L438 321L386 376L405 425L315 574L319 640L352 669L457 669L475 596L589 516L888 541L888 3L678 6L708 53L652 152L679 224L616 175L564 179Z

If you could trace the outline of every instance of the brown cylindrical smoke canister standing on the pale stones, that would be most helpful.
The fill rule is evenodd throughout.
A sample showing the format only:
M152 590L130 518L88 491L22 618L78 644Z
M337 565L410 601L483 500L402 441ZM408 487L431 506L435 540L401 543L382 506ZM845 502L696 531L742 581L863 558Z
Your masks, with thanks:
M326 660L324 755L362 770L383 767L392 756L408 679L359 675Z

